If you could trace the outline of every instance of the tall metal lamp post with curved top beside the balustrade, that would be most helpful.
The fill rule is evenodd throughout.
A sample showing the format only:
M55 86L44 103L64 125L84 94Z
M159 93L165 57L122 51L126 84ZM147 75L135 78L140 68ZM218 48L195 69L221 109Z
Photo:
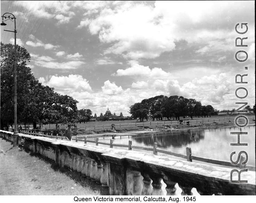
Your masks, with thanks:
M5 16L5 14L11 14L13 17L9 16ZM5 26L6 24L4 23L4 18L8 18L7 20L11 20L14 19L14 31L10 31L10 30L5 30L8 32L14 32L14 62L13 62L13 66L14 66L14 134L13 134L13 146L18 145L18 131L17 131L17 94L16 94L16 63L17 63L17 59L16 59L16 18L12 13L5 13L3 14L2 17L2 23L1 25ZM6 21L6 20L5 20ZM13 22L13 21L12 21Z

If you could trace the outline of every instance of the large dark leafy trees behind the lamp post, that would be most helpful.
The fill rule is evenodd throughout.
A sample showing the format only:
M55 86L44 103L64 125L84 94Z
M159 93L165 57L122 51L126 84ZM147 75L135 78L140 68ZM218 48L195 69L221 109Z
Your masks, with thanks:
M1 129L14 123L14 45L1 42ZM90 109L78 110L77 100L54 92L43 86L31 73L26 62L31 56L24 47L16 45L17 54L17 123L33 123L36 128L42 123L87 122L92 116Z

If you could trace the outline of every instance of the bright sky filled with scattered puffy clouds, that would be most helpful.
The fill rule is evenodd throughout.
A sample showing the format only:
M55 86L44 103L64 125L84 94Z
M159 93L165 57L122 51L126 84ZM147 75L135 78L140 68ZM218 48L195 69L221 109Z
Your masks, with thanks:
M254 1L1 1L1 16L16 17L17 44L30 53L35 78L97 116L107 108L130 116L131 105L157 95L218 110L241 106L235 102L252 108L254 9ZM5 23L1 41L14 43L14 33L4 31L14 22ZM238 32L246 30L241 23L248 31L236 33L237 23ZM237 37L248 46L235 47ZM235 59L240 50L245 62ZM248 74L248 84L235 84L237 74ZM235 96L238 87L248 90L245 99Z

